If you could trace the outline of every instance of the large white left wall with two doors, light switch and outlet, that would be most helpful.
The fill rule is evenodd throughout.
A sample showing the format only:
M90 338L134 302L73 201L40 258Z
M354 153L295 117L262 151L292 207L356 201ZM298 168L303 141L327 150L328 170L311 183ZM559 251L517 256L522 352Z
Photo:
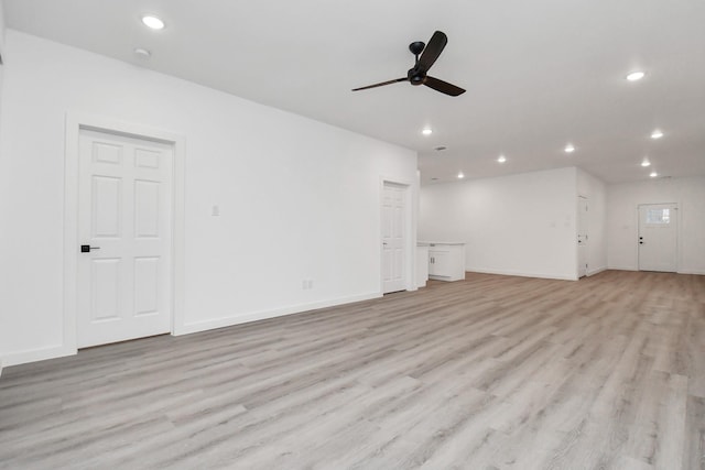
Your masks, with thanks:
M380 295L381 178L409 182L415 200L414 152L12 30L6 40L6 364L70 348L62 343L67 112L185 138L181 331ZM303 291L303 278L314 288Z

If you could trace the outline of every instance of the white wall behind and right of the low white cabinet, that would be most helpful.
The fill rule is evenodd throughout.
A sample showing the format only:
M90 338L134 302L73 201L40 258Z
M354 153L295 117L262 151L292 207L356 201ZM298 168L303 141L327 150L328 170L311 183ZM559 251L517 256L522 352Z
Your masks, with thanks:
M576 168L425 186L419 240L462 241L467 271L577 278Z

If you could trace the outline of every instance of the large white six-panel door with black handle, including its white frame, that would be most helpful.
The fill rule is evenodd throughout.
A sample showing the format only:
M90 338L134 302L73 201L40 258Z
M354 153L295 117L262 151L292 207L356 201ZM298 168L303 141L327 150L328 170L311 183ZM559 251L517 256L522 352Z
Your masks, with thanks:
M182 135L66 114L58 353L183 331L184 157Z

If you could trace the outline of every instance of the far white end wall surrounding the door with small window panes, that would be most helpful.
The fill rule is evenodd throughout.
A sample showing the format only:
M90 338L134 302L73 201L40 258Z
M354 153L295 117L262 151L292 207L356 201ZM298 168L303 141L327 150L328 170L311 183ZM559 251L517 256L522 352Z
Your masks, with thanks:
M680 273L705 274L705 177L661 178L607 187L608 264L638 270L640 204L679 204Z

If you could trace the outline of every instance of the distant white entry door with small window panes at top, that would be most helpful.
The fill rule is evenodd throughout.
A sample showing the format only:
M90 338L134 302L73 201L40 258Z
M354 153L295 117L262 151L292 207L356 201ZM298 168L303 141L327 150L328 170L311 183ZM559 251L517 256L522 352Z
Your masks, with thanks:
M639 206L639 270L677 271L677 205Z

